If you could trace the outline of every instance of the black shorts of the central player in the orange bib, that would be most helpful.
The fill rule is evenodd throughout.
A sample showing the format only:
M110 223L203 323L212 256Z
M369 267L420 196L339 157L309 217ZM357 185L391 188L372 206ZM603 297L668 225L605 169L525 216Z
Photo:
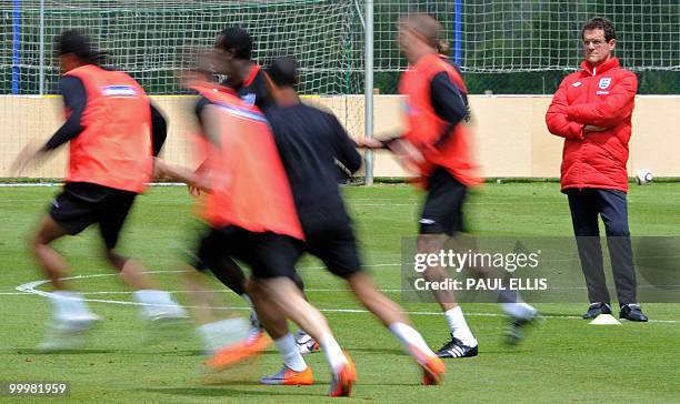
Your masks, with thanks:
M226 261L239 260L250 266L253 277L286 276L294 280L300 251L301 241L291 236L227 226L211 229L201 240L194 265L199 270L210 267L214 271L219 267L231 269L232 265L223 265ZM214 260L220 260L221 265L213 265ZM220 277L220 274L216 276Z

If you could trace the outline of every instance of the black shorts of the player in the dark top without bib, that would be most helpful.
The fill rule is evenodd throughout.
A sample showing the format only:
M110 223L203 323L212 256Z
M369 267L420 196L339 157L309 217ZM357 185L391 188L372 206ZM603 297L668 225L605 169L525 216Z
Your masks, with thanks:
M304 231L306 252L340 277L361 271L352 221L341 202L298 208L298 214Z

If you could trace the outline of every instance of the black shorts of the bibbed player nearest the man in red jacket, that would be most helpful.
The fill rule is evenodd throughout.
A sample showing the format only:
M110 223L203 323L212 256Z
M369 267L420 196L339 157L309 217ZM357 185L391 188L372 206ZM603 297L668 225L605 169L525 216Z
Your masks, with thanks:
M462 205L468 188L446 169L428 179L428 196L420 216L420 234L456 235L464 230Z

